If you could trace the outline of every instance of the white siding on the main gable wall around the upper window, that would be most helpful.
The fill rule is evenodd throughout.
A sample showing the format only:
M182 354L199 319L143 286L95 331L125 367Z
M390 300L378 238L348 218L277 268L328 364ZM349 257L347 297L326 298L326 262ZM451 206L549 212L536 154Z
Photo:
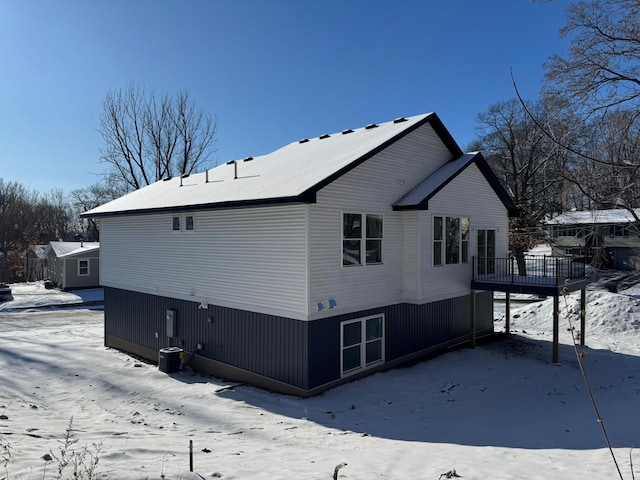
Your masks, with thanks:
M318 192L309 207L311 318L403 301L405 213L392 205L450 157L424 125ZM341 268L343 212L383 216L382 264ZM328 299L336 310L318 311Z

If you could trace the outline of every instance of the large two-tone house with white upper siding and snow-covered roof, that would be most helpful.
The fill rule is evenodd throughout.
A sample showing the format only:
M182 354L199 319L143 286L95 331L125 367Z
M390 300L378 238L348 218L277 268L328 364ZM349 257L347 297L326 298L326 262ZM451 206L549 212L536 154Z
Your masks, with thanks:
M105 345L314 395L493 333L514 205L434 113L168 178L100 221ZM153 238L153 242L149 239ZM472 308L473 307L473 308Z

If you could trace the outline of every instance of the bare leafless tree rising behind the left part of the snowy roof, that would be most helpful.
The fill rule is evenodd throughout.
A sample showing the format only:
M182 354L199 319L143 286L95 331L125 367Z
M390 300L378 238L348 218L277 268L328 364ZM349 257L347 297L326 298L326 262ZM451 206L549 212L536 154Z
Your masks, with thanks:
M189 92L175 98L134 83L107 93L100 116L108 174L137 190L167 176L204 168L215 152L217 121Z

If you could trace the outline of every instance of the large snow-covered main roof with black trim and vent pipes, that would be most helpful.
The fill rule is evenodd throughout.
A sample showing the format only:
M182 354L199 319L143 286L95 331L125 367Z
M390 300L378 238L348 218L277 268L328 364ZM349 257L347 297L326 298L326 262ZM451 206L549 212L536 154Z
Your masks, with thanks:
M82 216L314 202L318 190L425 124L433 128L452 158L462 155L438 116L427 113L303 139L267 155L161 180Z

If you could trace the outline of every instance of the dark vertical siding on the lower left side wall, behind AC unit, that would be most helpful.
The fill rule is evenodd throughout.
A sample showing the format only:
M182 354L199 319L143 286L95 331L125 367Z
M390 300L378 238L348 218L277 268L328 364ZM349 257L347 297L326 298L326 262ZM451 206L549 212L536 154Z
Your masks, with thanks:
M105 288L104 302L107 335L154 351L195 352L200 343L202 356L308 388L307 322L115 288ZM176 311L175 339L166 336L168 309Z

